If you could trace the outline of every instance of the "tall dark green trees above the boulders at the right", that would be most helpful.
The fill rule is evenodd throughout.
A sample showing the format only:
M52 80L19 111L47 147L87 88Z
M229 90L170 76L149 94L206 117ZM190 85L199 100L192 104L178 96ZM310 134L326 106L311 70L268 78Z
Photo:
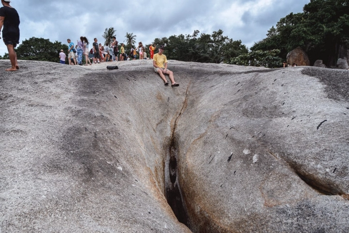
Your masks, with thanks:
M341 46L349 47L349 0L310 0L303 13L289 14L272 27L267 37L250 49L279 49L283 60L291 50L301 47L313 63L321 59L334 65Z

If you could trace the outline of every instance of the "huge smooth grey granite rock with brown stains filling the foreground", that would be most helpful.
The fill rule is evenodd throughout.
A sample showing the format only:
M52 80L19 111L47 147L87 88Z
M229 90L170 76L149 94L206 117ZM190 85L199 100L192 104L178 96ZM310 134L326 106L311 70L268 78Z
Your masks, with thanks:
M349 231L348 71L151 64L2 72L0 232Z

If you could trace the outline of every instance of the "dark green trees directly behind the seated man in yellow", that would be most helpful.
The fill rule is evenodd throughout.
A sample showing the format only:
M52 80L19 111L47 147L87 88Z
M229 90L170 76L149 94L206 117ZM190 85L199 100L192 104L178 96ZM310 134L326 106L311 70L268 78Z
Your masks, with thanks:
M232 57L248 53L241 41L233 41L223 36L222 30L213 32L212 35L203 33L198 37L199 33L195 30L192 35L156 38L154 44L157 48L166 47L165 54L168 59L186 62L228 62Z

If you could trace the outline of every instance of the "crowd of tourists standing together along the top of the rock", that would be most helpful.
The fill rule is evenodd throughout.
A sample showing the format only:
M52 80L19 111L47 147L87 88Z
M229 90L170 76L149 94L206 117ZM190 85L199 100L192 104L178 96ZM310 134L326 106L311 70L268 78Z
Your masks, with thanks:
M89 41L86 37L80 37L80 40L77 41L77 44L68 39L68 63L69 65L92 65L92 63L101 63L101 62L111 62L111 61L130 61L139 59L153 59L154 50L156 46L149 46L150 58L147 57L145 47L142 42L138 43L138 47L132 46L129 54L125 52L125 45L122 43L119 49L118 41L115 37L112 37L111 43L106 43L104 46L101 43L98 43L97 38L94 39L92 43L92 48L89 48ZM90 58L90 55L93 55ZM64 53L64 50L61 50L59 55L60 62L66 64L67 55ZM85 58L85 64L83 64L83 58ZM91 62L92 60L92 62Z

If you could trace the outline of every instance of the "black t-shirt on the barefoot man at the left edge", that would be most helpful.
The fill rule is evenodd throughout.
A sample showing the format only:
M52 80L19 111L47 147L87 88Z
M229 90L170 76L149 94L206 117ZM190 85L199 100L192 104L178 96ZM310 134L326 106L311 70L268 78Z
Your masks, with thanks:
M3 38L7 41L20 43L20 16L15 8L2 7L0 8L0 16L5 17Z

